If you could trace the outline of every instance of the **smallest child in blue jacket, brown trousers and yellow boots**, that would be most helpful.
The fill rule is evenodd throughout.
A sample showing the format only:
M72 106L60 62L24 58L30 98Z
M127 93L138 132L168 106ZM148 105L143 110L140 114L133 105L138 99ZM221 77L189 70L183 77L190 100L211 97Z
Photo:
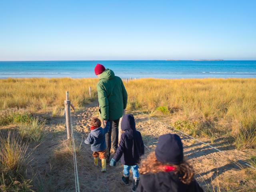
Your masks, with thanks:
M98 157L101 159L102 170L106 172L106 140L105 134L109 131L110 122L107 122L106 127L101 127L101 121L94 117L91 121L91 132L84 141L85 144L91 144L93 151L92 156L94 157L94 165L98 166Z

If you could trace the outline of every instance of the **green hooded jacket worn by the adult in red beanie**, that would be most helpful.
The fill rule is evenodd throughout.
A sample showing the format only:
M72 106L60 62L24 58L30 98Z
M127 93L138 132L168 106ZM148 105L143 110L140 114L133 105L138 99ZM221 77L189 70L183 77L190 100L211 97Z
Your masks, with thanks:
M101 118L117 120L122 117L128 98L122 79L115 76L112 70L106 69L100 74L97 91Z

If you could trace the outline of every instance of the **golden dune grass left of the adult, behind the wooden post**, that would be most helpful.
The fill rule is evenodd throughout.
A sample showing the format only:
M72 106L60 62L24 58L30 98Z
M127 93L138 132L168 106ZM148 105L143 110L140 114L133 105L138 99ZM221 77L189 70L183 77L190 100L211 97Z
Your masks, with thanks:
M24 78L0 80L0 97L4 98L0 110L27 108L32 111L63 108L65 92L70 92L70 100L76 108L89 101L89 86L92 97L96 98L96 79L70 78Z

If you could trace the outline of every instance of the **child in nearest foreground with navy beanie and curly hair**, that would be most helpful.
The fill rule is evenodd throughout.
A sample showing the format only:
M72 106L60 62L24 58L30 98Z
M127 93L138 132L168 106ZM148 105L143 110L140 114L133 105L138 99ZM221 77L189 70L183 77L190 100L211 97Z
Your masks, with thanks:
M177 134L159 137L156 150L142 161L137 192L203 192L194 179L194 170L184 160Z

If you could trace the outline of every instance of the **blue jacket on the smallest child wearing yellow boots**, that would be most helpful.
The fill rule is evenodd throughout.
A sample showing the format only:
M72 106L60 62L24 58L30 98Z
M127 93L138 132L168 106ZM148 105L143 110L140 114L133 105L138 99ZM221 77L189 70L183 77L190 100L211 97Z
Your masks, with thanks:
M84 141L85 144L91 144L92 151L103 151L106 149L105 134L109 131L110 122L107 122L106 127L96 128L91 130L88 138Z

